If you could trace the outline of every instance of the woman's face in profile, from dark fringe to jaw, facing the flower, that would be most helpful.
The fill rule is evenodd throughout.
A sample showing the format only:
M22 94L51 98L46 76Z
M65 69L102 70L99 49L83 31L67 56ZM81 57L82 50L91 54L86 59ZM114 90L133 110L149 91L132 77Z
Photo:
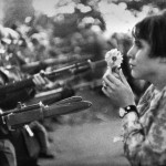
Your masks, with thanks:
M149 53L151 45L147 41L134 40L127 53L133 77L151 81L156 75L157 61L149 58Z

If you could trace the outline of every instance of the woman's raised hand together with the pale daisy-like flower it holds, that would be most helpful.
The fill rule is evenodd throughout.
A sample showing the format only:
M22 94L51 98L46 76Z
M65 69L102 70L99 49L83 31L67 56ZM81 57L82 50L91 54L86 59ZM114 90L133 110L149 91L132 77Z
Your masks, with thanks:
M117 49L113 49L105 54L107 71L103 76L102 91L116 106L124 107L134 104L134 95L122 70L120 70L123 56Z

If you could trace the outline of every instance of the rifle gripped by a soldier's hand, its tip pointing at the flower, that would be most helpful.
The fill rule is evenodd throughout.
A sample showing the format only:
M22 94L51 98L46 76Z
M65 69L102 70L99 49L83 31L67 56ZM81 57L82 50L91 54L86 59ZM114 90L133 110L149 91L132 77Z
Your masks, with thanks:
M59 79L61 76L71 76L73 74L79 74L83 73L86 71L94 71L97 68L103 68L106 66L106 62L104 60L100 60L96 62L92 62L91 60L87 60L85 62L80 62L75 63L69 66L64 66L62 69L54 70L52 72L43 72L41 73L42 76L45 76L48 79ZM33 76L14 82L14 83L9 83L7 85L0 86L0 96L4 96L8 93L13 93L15 91L19 91L21 89L27 89L27 87L34 87L35 84L33 83Z

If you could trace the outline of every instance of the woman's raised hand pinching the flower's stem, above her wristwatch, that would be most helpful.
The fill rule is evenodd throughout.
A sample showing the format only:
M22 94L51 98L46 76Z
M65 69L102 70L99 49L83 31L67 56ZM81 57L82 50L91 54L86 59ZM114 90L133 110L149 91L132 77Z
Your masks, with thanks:
M116 106L125 107L135 104L134 94L122 72L122 69L118 72L118 76L117 73L115 75L111 73L103 76L102 91Z

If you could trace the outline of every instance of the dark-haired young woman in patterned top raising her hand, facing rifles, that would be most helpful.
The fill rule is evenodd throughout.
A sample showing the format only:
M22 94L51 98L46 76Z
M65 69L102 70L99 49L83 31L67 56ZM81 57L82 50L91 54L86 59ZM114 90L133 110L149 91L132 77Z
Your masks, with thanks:
M146 17L133 29L127 53L134 79L152 84L135 105L122 70L103 76L103 92L121 108L124 153L133 166L166 165L166 11Z

